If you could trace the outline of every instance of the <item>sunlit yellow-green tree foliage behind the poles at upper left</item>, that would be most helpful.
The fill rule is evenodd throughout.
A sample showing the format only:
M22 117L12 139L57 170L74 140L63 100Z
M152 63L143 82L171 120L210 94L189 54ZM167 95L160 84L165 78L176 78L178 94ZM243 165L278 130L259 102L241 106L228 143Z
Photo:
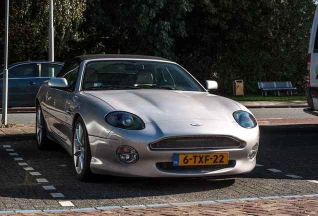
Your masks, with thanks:
M82 21L85 0L54 0L55 60L64 60L65 44L74 40ZM4 5L0 6L4 11ZM4 14L1 13L1 38L4 44ZM2 27L3 26L3 27ZM8 63L48 59L48 1L10 0ZM3 64L4 45L0 59Z

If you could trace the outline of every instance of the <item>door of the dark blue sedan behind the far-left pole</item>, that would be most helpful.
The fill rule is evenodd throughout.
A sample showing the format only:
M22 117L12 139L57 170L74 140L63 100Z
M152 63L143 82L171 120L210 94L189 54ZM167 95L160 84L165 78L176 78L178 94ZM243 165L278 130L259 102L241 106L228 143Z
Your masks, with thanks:
M8 68L7 107L35 106L37 69L36 63L21 63ZM3 74L0 75L0 98L2 89Z

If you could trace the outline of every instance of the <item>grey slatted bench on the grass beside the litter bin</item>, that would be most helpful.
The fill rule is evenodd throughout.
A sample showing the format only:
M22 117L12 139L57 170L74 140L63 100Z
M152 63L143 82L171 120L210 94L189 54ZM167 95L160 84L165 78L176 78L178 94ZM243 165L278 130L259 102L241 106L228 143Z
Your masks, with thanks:
M276 96L276 90L278 91L278 96L280 96L280 90L290 90L290 95L292 96L292 90L296 89L296 87L291 86L291 81L261 81L257 82L258 88L261 90L261 95L263 96L263 92L265 92L265 96L267 96L267 90L274 90L274 94Z

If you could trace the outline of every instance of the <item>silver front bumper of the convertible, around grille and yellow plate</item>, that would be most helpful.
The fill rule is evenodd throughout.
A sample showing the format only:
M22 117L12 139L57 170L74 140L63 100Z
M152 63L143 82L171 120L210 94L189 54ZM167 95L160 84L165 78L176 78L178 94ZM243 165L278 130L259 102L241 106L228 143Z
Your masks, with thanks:
M192 126L199 121L202 126ZM151 149L149 144L171 136L223 135L241 142L235 148L208 149ZM239 126L236 122L220 120L185 119L147 123L143 130L124 130L114 128L107 138L89 136L92 159L92 172L107 175L134 177L193 177L239 174L251 171L255 159L249 161L247 155L255 142L259 141L258 126L250 129ZM136 149L139 159L134 164L123 164L116 157L116 149L129 145ZM230 164L226 166L182 168L158 164L171 163L174 153L213 153L228 152Z

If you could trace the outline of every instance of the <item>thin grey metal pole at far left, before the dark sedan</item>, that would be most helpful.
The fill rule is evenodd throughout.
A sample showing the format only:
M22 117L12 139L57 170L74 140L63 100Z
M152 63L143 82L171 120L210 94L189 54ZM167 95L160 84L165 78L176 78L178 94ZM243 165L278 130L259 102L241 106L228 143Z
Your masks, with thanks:
M2 89L2 123L6 124L7 113L7 41L9 23L9 0L5 1L5 33L4 33L4 69L3 69L3 89Z

